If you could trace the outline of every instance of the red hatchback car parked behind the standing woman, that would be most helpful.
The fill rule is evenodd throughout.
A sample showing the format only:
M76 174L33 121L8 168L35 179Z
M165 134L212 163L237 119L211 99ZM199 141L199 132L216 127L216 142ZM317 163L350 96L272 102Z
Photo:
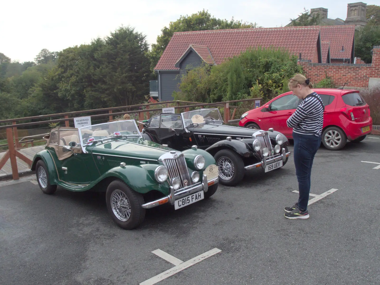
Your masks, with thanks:
M328 150L340 150L347 141L361 142L372 131L369 106L357 90L313 89L325 105L322 143ZM292 92L270 100L264 106L244 113L239 126L268 130L275 129L293 139L293 129L287 119L301 103Z

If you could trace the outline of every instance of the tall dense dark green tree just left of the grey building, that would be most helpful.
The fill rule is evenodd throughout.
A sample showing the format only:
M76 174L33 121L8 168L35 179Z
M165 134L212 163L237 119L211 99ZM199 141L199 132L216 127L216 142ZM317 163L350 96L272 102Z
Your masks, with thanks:
M105 38L105 45L95 53L100 67L95 70L97 90L114 105L132 105L149 93L148 43L146 35L131 27L119 27ZM103 99L104 100L104 99ZM106 102L103 102L106 103Z

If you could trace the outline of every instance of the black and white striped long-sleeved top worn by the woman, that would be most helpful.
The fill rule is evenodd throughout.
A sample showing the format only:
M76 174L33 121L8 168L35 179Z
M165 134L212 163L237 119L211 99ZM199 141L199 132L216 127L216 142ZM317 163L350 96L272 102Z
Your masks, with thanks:
M287 120L288 127L292 127L293 132L298 134L320 136L323 128L322 106L322 100L317 93L307 95Z

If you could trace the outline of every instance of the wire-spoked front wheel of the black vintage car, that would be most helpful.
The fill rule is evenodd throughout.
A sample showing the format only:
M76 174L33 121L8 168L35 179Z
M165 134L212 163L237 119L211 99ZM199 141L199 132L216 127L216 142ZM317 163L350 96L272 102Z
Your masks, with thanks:
M220 183L234 186L241 182L244 177L244 162L239 154L232 150L220 150L214 158L218 166Z

